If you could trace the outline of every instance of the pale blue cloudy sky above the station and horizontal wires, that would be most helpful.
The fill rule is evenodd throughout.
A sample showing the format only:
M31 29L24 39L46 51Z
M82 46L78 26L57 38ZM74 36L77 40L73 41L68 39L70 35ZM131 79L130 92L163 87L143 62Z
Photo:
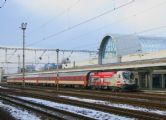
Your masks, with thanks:
M26 46L33 48L96 50L107 33L149 29L142 34L165 36L165 12L166 0L7 0L0 8L0 46L22 46L22 22L28 23Z

